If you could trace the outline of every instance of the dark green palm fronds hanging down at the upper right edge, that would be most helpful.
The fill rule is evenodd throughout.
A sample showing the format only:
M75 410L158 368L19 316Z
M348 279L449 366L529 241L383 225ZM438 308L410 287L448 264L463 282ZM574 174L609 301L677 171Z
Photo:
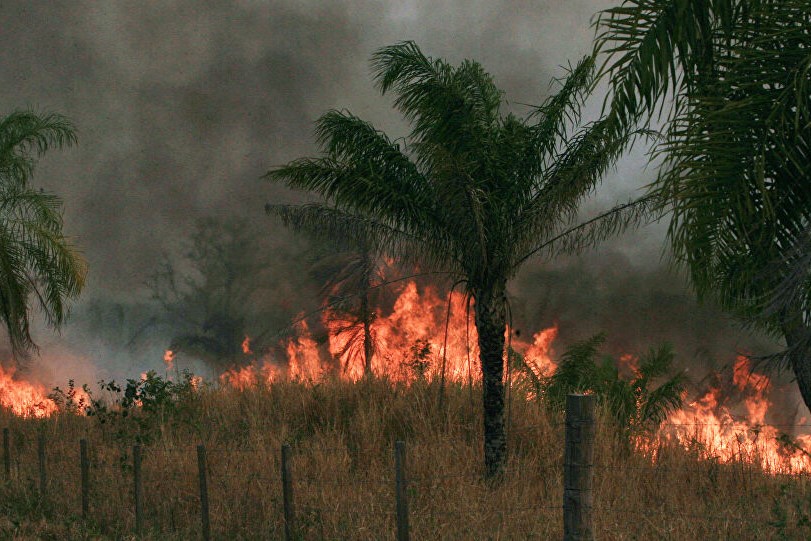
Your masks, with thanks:
M613 124L663 115L652 193L701 298L782 336L811 407L811 5L634 0L601 13Z

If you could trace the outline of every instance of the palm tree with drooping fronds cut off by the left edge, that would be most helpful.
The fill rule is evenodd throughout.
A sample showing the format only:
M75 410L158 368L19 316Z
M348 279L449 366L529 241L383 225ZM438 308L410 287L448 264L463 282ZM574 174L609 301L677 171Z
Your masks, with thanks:
M60 199L28 184L38 157L75 142L59 115L17 111L0 118L0 319L17 356L36 349L31 297L59 327L68 300L84 285L85 263L62 234Z

